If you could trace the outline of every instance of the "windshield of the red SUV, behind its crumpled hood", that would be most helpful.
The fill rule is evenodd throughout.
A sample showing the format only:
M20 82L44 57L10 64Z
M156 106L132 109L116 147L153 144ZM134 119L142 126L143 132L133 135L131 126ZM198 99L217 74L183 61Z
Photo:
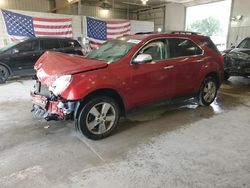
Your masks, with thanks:
M125 56L135 45L136 43L130 41L115 39L104 43L98 49L90 52L87 57L112 63Z

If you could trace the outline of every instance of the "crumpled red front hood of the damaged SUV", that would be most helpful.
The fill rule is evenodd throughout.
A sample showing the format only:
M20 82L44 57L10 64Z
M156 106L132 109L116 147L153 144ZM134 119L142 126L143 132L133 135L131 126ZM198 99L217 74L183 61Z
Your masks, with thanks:
M34 69L37 71L37 77L41 82L51 85L56 78L62 75L72 75L107 66L108 64L104 61L48 51L38 59Z

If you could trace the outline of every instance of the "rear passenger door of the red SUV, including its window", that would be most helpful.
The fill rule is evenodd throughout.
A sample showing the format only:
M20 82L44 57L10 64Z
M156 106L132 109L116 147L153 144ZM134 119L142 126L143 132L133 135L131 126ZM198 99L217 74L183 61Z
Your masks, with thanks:
M174 96L192 94L202 66L203 50L187 38L168 38Z

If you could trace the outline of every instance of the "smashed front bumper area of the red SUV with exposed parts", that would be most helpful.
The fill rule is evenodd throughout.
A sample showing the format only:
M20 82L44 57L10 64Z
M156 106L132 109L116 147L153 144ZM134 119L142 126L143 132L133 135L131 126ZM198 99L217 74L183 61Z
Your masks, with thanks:
M46 96L30 93L32 97L32 112L47 121L73 119L76 102L50 100Z

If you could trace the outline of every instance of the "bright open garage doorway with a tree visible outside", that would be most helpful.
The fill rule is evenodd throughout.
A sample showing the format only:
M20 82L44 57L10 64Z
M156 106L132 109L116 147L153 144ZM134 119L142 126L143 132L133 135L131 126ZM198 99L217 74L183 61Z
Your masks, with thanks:
M232 0L192 6L186 12L186 30L211 37L220 51L226 49Z

